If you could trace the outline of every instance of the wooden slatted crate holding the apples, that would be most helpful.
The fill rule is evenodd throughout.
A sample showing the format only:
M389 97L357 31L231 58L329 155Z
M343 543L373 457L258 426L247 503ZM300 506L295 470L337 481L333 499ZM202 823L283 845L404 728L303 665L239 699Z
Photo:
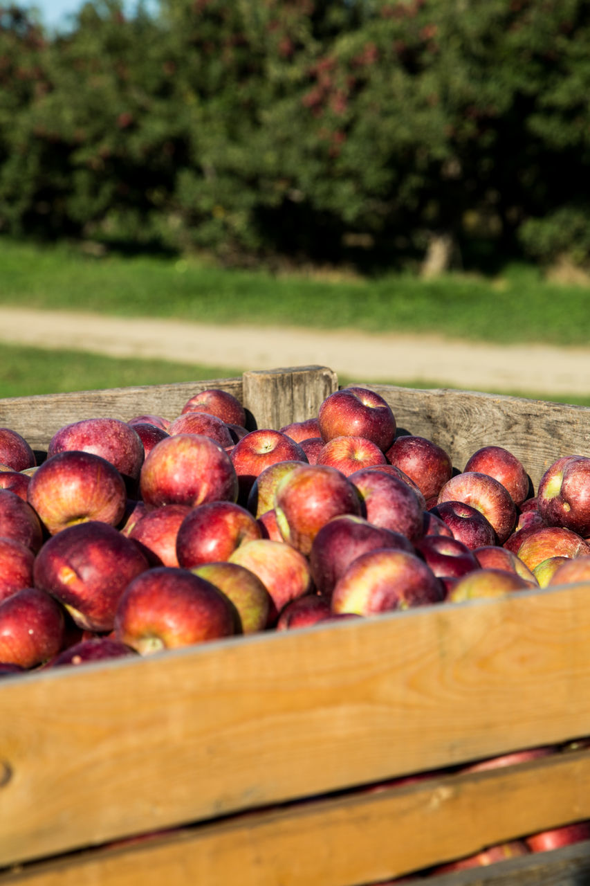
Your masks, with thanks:
M43 454L66 422L174 417L211 386L277 428L316 414L338 378L2 400L0 425ZM371 386L460 470L496 443L536 488L559 455L590 454L590 408ZM589 599L584 584L527 591L4 678L0 886L359 886L590 819L590 751L456 771L590 735ZM581 886L590 845L424 882Z

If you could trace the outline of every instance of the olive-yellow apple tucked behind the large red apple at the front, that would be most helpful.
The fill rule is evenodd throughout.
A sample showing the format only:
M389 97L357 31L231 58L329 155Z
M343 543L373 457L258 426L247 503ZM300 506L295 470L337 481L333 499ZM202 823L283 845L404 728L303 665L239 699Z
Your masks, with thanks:
M238 563L203 563L191 569L210 581L237 609L242 633L258 633L268 625L272 598L259 577Z

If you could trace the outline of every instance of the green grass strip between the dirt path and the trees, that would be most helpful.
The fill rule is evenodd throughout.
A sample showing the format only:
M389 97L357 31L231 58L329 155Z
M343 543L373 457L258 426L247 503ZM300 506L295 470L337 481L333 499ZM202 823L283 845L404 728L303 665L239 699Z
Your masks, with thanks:
M204 260L83 254L0 237L0 305L175 317L202 323L436 333L497 343L586 346L588 290L510 265L498 278L318 279L227 270Z

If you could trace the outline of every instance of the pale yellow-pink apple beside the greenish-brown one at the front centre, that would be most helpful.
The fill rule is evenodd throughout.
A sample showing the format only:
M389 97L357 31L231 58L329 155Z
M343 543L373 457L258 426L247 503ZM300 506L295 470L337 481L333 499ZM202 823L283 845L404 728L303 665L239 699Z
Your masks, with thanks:
M229 557L229 563L245 566L267 588L273 601L268 626L276 625L276 619L287 603L308 594L313 588L307 558L283 541L248 541L236 548Z

